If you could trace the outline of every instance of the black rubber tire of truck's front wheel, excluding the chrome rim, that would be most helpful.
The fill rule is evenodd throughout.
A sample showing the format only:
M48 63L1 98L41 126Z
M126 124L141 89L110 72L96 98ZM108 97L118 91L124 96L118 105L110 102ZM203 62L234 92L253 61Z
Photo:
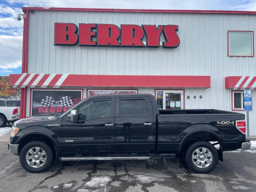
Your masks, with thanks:
M41 167L31 167L26 160L27 151L33 147L42 148L46 153L46 161ZM42 141L32 141L27 143L20 151L20 163L22 167L30 173L42 173L47 171L52 165L52 149Z

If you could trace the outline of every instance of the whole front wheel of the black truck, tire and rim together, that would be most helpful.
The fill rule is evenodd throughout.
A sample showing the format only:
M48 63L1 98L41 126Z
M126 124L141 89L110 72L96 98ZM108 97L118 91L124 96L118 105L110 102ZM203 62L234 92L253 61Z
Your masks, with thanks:
M20 163L31 173L47 171L52 164L52 149L41 141L27 143L20 151Z

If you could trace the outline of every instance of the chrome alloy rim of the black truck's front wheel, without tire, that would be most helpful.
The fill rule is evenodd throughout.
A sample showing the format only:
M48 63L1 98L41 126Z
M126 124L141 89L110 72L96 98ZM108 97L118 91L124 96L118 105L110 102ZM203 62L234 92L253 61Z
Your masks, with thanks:
M41 147L32 147L26 153L26 162L34 168L42 167L46 162L46 153Z

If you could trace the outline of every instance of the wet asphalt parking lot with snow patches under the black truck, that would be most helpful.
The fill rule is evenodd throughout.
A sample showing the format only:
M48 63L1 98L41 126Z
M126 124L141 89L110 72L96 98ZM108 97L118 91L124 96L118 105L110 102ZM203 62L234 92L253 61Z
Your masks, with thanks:
M1 128L0 128L1 129ZM7 150L9 128L0 134L0 191L256 191L256 150L227 152L209 174L188 171L181 159L54 163L29 173Z

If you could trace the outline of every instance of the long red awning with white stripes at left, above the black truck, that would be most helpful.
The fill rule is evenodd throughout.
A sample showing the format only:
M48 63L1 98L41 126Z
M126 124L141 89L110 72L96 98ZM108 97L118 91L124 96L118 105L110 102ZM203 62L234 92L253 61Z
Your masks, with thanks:
M145 75L72 75L10 74L10 86L19 87L204 87L211 86L210 76L145 76Z

